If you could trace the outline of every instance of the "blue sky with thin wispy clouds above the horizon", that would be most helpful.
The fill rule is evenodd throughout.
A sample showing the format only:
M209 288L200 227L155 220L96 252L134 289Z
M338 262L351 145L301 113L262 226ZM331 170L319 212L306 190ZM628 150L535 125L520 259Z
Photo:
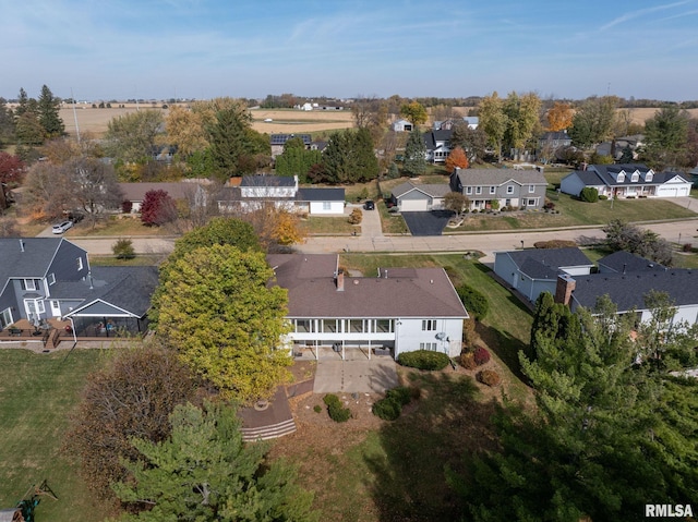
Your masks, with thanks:
M0 96L698 99L698 0L0 0Z

